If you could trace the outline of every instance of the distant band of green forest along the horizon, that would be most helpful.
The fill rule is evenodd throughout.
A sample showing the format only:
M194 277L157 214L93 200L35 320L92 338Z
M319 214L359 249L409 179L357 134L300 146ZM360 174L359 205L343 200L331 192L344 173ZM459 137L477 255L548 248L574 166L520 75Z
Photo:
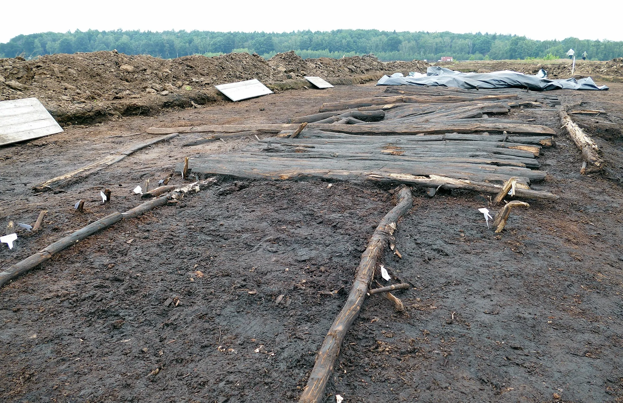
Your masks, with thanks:
M215 56L230 52L257 53L265 58L294 50L307 57L375 54L384 61L412 59L455 60L557 59L569 48L591 60L623 56L623 42L534 41L524 36L454 34L452 32L387 32L375 29L338 29L331 32L211 32L211 31L75 31L19 35L0 44L0 57L35 57L52 53L117 51L170 59L192 54Z

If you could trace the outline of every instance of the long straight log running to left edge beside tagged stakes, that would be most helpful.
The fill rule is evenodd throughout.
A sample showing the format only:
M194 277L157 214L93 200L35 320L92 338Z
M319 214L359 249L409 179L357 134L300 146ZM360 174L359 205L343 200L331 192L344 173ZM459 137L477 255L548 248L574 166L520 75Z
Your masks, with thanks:
M19 261L14 265L11 265L9 268L2 269L2 271L0 271L0 288L4 286L4 284L6 284L8 281L16 279L17 277L21 276L21 274L24 274L27 271L36 268L36 266L39 266L41 263L44 263L47 260L50 260L50 258L52 258L52 256L54 256L56 253L59 253L60 251L69 248L70 246L76 245L79 241L88 238L88 236L91 236L98 231L110 228L110 226L114 225L120 220L123 220L124 218L136 218L137 216L140 216L146 211L153 210L153 208L156 208L157 206L166 205L169 200L179 198L184 193L194 191L198 192L201 188L211 185L215 182L216 179L211 178L200 182L190 183L189 185L185 185L184 187L177 187L175 192L169 195L163 195L153 200L145 201L145 203L142 203L141 205L138 205L135 208L126 211L125 213L119 213L118 211L115 211L114 213L100 218L100 220L90 223L89 225L80 228L80 230L77 230L74 233L65 236L64 238L61 238L60 240L52 243L51 245L35 253L34 255L31 255L26 259Z

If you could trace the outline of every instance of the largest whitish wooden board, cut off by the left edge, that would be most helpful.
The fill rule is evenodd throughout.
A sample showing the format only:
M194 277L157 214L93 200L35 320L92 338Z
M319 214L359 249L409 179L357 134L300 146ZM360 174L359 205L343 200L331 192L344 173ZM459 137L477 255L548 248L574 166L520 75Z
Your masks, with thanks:
M57 134L63 129L36 98L0 102L0 145Z

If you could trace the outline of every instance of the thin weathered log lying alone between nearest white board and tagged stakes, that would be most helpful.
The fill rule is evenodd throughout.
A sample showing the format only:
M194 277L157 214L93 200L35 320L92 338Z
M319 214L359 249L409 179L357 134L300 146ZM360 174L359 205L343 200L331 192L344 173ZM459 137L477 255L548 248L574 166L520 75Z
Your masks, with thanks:
M149 147L150 145L163 142L165 140L170 140L171 138L174 138L176 136L178 136L178 134L173 132L172 134L169 134L163 137L154 138L148 142L136 143L136 144L130 145L129 147L123 148L117 153L114 153L113 155L108 155L108 157L105 157L99 161L90 163L89 165L85 167L79 168L69 173L65 173L64 175L60 175L50 180L46 180L45 182L39 183L32 188L36 190L37 192L42 192L44 190L53 190L55 188L61 188L61 187L67 186L70 183L77 182L78 180L88 177L88 175L92 175L95 172L98 172L106 167L109 167L110 165L113 165L113 163L120 162L121 160L123 160L123 158L128 157L128 155L131 155L137 152L138 150L142 150L145 147Z

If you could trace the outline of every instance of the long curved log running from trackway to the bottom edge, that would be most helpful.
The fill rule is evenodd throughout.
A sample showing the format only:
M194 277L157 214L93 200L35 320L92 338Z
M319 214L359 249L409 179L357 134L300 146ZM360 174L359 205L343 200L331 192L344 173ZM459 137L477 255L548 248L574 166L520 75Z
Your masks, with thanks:
M318 354L316 363L307 381L307 386L300 396L300 403L318 403L324 399L326 382L331 377L333 366L340 354L340 347L346 332L359 315L363 301L372 281L377 261L388 244L388 238L394 233L398 220L412 207L411 189L403 188L398 195L398 203L384 216L368 242L356 270L353 288L348 294L344 308L333 321Z

